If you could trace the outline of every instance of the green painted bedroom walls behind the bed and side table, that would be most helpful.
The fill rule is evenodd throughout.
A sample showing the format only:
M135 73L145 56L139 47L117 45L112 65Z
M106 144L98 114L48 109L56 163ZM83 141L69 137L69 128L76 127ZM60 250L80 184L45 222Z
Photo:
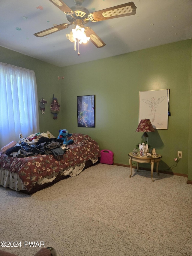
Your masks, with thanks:
M179 41L63 68L0 47L0 61L35 71L38 100L44 97L48 101L45 114L39 110L40 132L49 130L57 137L58 130L66 128L70 133L89 134L100 149L114 152L117 164L129 164L128 153L142 137L135 132L139 92L170 89L168 130L149 133L149 144L163 156L159 170L188 174L192 181L191 42ZM58 80L58 76L64 79ZM57 120L52 119L49 108L53 94L61 104ZM93 94L95 128L77 127L76 97ZM176 163L173 158L177 151L182 151L182 159Z

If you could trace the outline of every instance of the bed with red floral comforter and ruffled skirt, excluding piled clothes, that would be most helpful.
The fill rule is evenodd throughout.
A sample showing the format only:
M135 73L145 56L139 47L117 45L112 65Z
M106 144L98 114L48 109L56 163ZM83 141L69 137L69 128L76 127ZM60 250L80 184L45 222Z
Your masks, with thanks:
M32 194L66 177L74 177L98 162L98 143L85 134L72 134L63 155L14 157L0 152L0 185Z

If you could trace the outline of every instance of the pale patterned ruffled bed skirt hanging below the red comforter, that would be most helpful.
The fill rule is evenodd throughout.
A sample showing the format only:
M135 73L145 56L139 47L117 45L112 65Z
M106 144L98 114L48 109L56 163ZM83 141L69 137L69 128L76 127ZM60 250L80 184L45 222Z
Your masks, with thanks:
M98 158L90 159L93 164L95 164L98 161ZM64 176L77 176L79 173L82 172L83 168L85 167L85 162L81 164L76 164L75 166L68 167L66 170L63 170L60 172L60 175ZM52 182L56 177L58 173L52 173L51 175L39 179L37 183L39 185L43 185L45 183ZM19 178L19 175L17 173L12 173L9 170L4 169L3 167L0 167L0 185L4 186L4 188L11 188L13 190L19 191L19 190L27 190L21 179Z

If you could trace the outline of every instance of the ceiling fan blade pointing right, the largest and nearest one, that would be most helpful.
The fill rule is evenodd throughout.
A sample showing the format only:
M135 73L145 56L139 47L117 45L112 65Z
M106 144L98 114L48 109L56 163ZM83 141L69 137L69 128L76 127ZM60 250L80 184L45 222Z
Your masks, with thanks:
M100 11L95 11L93 13L90 13L88 15L88 18L93 22L109 20L113 18L134 15L136 14L136 9L137 7L134 5L134 2L130 2L122 5L116 5Z

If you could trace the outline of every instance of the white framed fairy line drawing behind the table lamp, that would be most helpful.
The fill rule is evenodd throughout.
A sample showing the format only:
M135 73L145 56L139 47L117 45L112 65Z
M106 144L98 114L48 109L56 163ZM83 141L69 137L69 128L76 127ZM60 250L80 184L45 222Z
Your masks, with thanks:
M169 89L139 92L139 122L150 119L154 129L168 129Z

